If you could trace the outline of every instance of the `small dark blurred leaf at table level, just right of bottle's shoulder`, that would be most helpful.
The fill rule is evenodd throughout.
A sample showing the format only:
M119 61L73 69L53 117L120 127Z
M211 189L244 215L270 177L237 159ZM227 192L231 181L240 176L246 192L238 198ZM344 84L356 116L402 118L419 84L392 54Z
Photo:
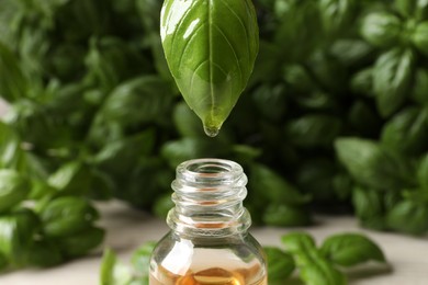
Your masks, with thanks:
M269 226L301 227L312 224L308 210L301 206L270 204L263 213L263 221Z

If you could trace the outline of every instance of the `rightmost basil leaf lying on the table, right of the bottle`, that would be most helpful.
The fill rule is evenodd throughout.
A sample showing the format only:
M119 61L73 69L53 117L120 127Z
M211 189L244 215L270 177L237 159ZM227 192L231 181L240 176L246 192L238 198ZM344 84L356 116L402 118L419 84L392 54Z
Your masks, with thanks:
M320 252L333 263L353 266L371 260L385 262L385 256L376 243L358 233L341 233L328 237Z

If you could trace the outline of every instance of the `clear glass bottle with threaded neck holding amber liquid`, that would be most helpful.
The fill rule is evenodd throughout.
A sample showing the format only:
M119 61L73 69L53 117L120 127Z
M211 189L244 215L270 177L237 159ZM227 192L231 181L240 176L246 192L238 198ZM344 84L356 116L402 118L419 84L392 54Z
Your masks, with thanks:
M247 176L233 161L181 163L172 182L171 228L150 259L150 285L267 285L264 253L247 231Z

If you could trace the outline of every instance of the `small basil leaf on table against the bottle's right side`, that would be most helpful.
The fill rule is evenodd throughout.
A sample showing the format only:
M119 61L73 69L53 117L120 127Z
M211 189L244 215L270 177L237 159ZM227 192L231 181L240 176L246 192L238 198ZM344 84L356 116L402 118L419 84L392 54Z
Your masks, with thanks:
M279 248L264 247L268 258L268 280L269 283L284 282L295 269L293 256Z

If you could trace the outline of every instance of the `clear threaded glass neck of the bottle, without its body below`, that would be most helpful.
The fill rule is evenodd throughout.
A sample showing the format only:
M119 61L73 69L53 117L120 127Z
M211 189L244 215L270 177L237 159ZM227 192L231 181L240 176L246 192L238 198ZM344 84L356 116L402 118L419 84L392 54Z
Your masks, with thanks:
M243 206L247 196L243 168L222 159L195 159L181 163L172 182L169 227L179 235L225 237L244 233L251 225Z

